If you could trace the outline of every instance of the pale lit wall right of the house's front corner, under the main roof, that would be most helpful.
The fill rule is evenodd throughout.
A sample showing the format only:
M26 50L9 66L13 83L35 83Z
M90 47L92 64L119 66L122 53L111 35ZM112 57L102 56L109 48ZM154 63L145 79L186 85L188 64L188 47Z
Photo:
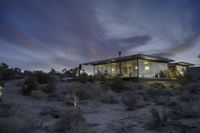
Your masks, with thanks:
M167 63L139 59L138 64L139 78L168 78Z

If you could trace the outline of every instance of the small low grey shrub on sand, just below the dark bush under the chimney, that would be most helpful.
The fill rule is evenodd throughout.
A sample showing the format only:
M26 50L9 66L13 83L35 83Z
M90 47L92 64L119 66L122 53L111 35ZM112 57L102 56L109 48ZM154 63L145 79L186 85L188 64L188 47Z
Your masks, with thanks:
M111 90L106 91L101 95L101 102L114 104L117 103L116 95Z

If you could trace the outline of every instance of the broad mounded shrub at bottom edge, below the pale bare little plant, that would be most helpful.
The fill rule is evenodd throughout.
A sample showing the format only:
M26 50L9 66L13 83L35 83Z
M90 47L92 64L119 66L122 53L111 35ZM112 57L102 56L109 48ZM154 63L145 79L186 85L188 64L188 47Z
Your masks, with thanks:
M94 130L86 125L79 110L65 113L65 115L55 123L53 131L65 133L95 133Z

